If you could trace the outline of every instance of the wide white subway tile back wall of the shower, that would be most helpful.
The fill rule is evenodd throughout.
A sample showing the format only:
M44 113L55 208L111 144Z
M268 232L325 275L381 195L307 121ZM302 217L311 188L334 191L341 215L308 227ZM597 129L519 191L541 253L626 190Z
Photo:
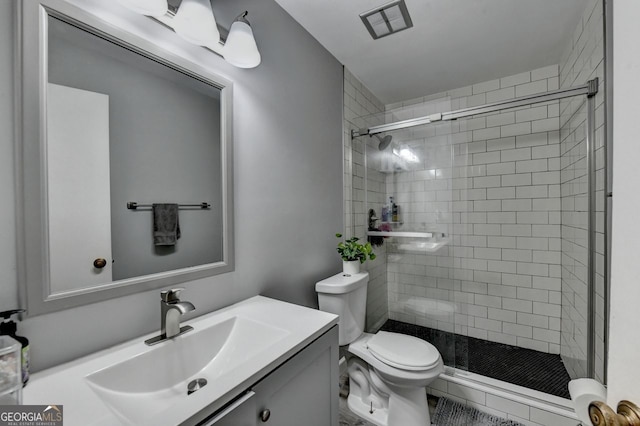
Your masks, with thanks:
M552 65L387 105L385 118L557 86ZM403 220L395 230L441 232L449 243L433 253L420 252L417 242L387 240L391 319L560 352L559 111L557 101L548 102L393 132L396 148L412 150L420 162L396 158L402 170L383 175L385 194L368 206L380 214L393 196ZM381 157L367 156L367 172L377 178Z

